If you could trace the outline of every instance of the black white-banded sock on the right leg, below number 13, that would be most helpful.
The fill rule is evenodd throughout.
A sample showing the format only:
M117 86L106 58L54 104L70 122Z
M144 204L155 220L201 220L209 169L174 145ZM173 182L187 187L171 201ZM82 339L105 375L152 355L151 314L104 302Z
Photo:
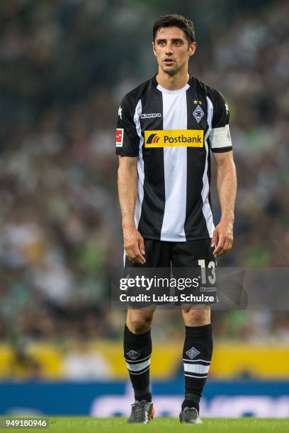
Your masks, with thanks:
M181 409L199 410L200 397L207 380L212 359L212 325L186 326L183 345L183 370L185 372L185 400Z

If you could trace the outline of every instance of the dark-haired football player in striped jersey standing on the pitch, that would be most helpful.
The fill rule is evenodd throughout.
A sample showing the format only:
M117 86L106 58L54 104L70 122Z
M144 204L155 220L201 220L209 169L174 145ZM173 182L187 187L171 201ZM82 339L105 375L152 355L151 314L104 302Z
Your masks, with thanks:
M125 267L215 265L232 248L237 179L222 94L188 75L196 50L192 21L160 17L153 28L156 76L128 93L118 110L116 154ZM222 217L210 207L210 150L217 163ZM154 415L149 391L154 308L130 308L125 362L135 391L129 422ZM200 424L199 401L212 357L210 309L182 308L186 393L180 421Z

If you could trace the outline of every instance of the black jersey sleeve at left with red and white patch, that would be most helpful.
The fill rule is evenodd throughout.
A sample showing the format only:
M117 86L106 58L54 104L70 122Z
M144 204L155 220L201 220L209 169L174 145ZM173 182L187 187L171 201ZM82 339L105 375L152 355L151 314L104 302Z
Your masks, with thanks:
M115 154L120 156L138 156L140 137L135 125L135 105L125 96L118 108L118 123L115 137Z

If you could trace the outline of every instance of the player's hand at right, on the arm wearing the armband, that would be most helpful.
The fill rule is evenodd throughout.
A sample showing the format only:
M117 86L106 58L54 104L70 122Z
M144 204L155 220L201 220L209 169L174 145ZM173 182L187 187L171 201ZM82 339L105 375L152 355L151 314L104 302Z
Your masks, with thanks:
M212 234L211 246L215 247L214 257L227 254L233 245L233 221L231 219L221 219Z

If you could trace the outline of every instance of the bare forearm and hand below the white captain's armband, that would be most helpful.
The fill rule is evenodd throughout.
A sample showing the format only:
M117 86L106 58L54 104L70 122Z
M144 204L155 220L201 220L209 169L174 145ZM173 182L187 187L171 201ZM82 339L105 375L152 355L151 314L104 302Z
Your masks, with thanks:
M215 153L217 163L217 192L222 217L212 236L214 255L226 254L233 244L234 204L237 194L237 175L232 151Z

